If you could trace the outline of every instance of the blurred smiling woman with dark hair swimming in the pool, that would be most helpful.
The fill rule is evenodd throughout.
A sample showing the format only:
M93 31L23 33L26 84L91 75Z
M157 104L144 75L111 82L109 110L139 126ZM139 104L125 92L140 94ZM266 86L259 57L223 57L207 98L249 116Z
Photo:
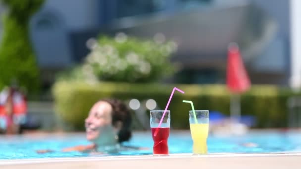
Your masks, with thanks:
M120 149L139 149L120 146L131 138L131 115L126 105L117 99L96 102L85 120L86 138L91 145L65 148L62 151L116 153ZM50 152L40 150L38 153Z

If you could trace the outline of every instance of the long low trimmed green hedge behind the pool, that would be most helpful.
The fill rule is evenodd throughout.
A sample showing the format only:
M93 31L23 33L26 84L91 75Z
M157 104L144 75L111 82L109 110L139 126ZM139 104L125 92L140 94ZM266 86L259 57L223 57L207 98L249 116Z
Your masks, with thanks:
M188 110L190 105L182 100L192 100L196 109L208 109L229 115L229 92L224 85L183 85L183 84L128 84L60 81L54 85L53 94L57 115L67 124L83 129L84 119L91 106L104 97L123 100L152 98L164 109L173 87L185 91L175 92L170 103L171 125L175 129L188 129ZM292 93L276 86L253 86L241 97L243 115L254 115L256 127L286 127L287 98ZM146 112L149 114L149 112Z

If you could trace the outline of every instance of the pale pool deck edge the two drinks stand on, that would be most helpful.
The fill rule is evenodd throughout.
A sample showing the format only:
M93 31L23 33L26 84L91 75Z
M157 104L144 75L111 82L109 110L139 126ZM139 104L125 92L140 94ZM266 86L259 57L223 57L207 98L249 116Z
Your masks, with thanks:
M301 169L301 153L0 160L0 169Z

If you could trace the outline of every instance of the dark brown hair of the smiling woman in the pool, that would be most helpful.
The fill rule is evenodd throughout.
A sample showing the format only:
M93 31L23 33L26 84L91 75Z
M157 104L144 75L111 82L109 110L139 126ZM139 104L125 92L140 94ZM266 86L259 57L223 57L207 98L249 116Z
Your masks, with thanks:
M116 125L118 121L122 122L122 127L118 132L118 142L128 141L131 136L131 113L127 106L118 99L101 99L112 106L112 125Z

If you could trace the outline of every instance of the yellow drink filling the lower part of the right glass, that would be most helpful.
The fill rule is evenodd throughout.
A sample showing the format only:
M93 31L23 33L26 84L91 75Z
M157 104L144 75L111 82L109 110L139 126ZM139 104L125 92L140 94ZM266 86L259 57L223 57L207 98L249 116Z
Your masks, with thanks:
M207 154L208 123L190 124L194 154Z

